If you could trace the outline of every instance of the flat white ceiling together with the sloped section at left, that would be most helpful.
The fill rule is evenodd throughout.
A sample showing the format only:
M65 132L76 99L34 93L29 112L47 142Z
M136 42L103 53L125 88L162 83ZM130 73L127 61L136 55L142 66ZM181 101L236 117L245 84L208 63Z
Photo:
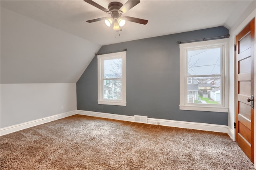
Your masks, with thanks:
M127 22L115 32L104 21L85 22L109 14L83 0L1 0L1 83L76 83L101 45L230 28L252 1L141 0L126 16L148 24Z

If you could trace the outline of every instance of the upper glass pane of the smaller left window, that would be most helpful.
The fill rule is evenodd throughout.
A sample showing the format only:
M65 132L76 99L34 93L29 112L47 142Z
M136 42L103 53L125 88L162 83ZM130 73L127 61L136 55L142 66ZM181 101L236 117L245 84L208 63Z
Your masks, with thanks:
M122 77L122 59L104 60L104 78L114 79Z

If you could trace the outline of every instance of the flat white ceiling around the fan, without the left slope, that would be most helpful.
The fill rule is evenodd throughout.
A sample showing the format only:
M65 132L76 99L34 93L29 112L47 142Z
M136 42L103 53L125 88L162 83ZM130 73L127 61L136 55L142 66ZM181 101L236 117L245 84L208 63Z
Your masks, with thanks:
M122 4L126 2L116 1ZM95 2L108 8L108 3L112 1ZM126 22L120 36L107 27L104 21L85 22L109 14L83 0L1 0L1 6L90 42L107 45L215 26L231 27L236 17L251 2L252 0L141 0L125 16L148 20L148 24Z

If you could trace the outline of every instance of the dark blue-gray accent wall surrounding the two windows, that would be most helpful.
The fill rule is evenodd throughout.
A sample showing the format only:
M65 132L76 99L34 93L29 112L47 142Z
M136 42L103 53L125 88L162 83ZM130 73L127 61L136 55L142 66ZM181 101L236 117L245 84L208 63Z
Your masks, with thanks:
M77 109L150 118L228 125L228 113L179 110L180 56L177 41L224 36L225 27L146 38L101 47L99 53L127 48L126 106L98 105L97 56L78 82ZM121 35L122 36L122 35Z

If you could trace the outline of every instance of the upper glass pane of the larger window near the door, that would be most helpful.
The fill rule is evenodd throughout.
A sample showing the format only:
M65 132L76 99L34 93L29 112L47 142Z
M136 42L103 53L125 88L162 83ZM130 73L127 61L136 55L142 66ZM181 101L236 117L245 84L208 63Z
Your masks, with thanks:
M188 51L188 75L220 74L221 48Z

